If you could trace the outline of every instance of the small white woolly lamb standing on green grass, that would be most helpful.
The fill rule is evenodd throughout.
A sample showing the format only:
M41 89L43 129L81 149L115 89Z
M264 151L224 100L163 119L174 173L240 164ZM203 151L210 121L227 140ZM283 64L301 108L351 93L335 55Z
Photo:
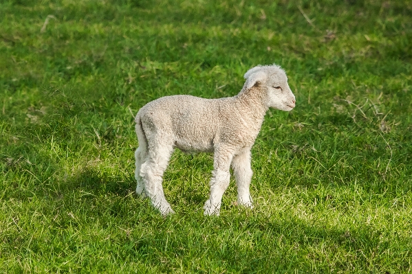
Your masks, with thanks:
M221 198L235 174L237 203L252 208L250 149L270 107L291 111L295 97L285 71L277 65L248 70L243 89L230 98L204 99L172 95L149 102L135 117L139 147L135 151L136 193L149 197L164 216L173 214L162 188L162 177L174 148L184 152L214 152L210 197L204 215L219 216Z

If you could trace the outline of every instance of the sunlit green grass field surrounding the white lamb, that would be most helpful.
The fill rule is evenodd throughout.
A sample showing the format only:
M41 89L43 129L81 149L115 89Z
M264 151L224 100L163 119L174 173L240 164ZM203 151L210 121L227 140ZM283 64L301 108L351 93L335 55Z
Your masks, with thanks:
M0 1L0 273L411 273L411 1ZM252 150L255 208L203 216L211 155L176 151L176 214L136 198L133 115L281 65L296 108Z

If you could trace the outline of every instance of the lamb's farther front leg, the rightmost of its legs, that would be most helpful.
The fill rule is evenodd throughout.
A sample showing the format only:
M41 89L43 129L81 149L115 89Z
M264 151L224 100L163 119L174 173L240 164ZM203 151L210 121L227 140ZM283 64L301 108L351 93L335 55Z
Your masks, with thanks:
M252 168L250 168L250 148L236 155L232 161L237 185L237 203L245 207L253 208L250 197L250 181L252 180Z

